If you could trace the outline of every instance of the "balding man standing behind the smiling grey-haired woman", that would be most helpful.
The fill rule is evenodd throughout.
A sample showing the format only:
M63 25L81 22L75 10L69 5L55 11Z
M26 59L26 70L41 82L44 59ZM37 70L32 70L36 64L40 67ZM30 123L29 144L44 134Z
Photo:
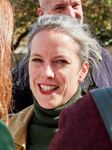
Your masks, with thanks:
M38 15L69 15L77 18L80 24L83 24L83 11L81 0L39 0L40 8ZM89 93L91 89L109 87L112 85L112 57L110 53L101 48L99 55L99 66L89 68L89 73L81 83L82 95ZM13 81L13 99L15 108L13 112L18 112L33 103L32 92L29 86L29 76L23 78L24 70L20 71L19 65L12 72ZM92 82L91 82L92 81ZM24 99L24 100L23 100Z

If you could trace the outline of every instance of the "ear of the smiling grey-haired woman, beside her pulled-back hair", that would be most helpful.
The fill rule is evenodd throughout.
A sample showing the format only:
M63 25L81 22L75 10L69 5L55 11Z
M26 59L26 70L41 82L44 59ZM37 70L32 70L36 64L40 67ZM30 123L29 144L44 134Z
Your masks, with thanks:
M84 78L86 77L87 73L88 73L88 68L89 68L89 64L88 62L86 61L82 68L81 68L81 71L80 71L80 75L79 75L79 79L78 79L78 82L81 83Z

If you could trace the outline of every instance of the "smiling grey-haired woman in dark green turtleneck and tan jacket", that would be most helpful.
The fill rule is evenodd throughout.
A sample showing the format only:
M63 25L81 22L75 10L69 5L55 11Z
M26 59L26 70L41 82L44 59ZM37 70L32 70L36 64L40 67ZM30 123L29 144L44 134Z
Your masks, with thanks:
M81 97L79 84L97 64L99 47L86 25L52 15L38 19L27 47L21 69L25 83L28 66L34 105L10 118L10 131L18 150L45 150L58 130L60 111Z

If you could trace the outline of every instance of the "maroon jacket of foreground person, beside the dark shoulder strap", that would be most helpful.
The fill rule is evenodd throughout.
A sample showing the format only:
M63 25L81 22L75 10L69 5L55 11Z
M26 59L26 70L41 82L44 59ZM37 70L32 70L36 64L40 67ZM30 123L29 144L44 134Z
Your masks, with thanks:
M104 122L91 95L62 110L59 131L49 150L112 150Z

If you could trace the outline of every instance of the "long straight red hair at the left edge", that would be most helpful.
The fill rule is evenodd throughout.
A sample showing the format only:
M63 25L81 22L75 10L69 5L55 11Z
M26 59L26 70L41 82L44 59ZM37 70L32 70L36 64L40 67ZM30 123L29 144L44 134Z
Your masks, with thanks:
M11 4L9 0L0 0L0 119L2 119L3 115L8 114L12 95L12 33L13 11Z

